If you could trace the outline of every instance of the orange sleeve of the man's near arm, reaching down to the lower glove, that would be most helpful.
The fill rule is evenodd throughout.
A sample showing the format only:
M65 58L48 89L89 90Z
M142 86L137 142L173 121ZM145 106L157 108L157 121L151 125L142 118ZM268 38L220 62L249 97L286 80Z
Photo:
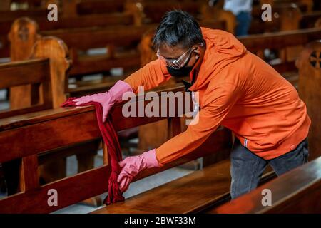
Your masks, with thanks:
M240 96L238 90L238 87L233 83L223 83L215 88L208 88L208 91L205 91L203 108L195 117L198 123L188 125L185 132L156 148L158 163L163 166L178 157L193 152L202 145L237 102Z

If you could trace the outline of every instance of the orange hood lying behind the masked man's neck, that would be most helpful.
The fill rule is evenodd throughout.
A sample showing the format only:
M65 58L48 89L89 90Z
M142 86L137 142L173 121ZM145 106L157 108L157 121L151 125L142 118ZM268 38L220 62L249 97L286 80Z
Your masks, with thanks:
M210 80L218 76L225 66L238 60L246 53L245 46L231 33L210 28L201 28L201 31L206 49L198 76L193 86L190 87L192 91L207 86ZM190 77L192 76L193 72L190 73Z

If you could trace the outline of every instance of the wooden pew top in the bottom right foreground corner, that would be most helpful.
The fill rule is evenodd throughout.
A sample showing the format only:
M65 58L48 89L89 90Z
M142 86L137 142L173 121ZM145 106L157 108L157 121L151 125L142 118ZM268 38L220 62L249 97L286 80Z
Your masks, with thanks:
M203 210L208 214L321 213L321 157L265 183L231 202ZM270 190L271 205L263 206L263 190ZM265 201L264 201L265 202Z

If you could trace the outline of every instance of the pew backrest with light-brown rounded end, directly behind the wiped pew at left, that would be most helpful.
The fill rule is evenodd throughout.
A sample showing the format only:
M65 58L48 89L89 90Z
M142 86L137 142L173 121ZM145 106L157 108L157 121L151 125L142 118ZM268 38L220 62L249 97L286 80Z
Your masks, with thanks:
M23 33L18 34L24 37ZM36 39L25 61L19 61L19 55L14 53L16 61L1 64L1 88L11 91L10 110L1 113L2 118L55 108L66 100L66 71L70 66L68 48L59 38ZM20 41L24 46L24 38ZM24 55L23 50L20 52Z

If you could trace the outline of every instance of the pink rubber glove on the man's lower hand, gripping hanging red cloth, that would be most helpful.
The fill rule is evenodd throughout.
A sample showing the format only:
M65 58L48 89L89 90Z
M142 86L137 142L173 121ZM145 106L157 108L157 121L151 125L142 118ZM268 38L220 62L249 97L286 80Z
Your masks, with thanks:
M161 167L156 158L155 149L143 152L141 155L126 157L119 162L119 166L122 169L121 173L118 175L117 181L121 192L125 192L128 189L133 177L138 175L138 172L141 172L141 170L152 167Z

